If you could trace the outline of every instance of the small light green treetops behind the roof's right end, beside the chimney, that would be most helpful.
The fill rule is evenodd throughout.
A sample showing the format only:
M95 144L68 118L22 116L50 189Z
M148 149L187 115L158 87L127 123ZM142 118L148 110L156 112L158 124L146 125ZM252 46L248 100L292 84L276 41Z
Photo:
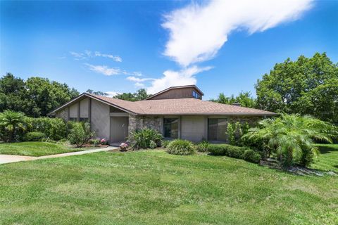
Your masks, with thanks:
M229 104L232 105L233 103L239 103L243 107L247 108L255 108L256 107L256 100L251 95L250 91L241 91L238 96L225 96L224 93L220 93L218 98L211 99L215 103L222 103L222 104Z

